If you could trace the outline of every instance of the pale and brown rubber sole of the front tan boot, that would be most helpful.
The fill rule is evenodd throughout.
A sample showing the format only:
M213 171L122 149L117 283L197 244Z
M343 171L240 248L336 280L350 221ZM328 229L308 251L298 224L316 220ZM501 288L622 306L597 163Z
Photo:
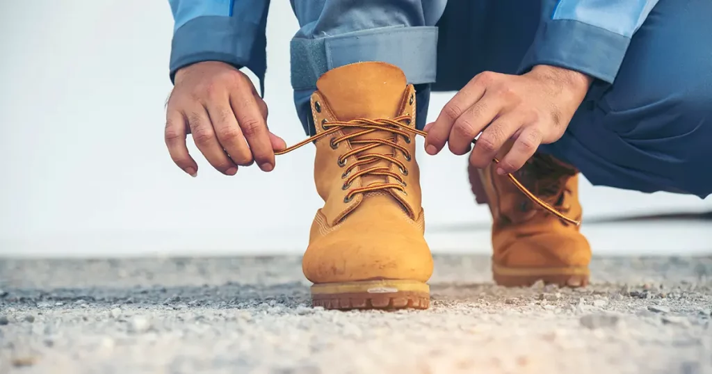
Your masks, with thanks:
M427 309L430 287L422 281L379 279L315 284L313 306L325 309Z

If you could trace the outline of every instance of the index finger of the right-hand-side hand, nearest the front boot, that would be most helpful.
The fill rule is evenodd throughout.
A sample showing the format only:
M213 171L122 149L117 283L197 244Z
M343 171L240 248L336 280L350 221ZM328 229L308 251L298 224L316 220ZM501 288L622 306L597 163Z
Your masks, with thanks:
M443 107L438 118L428 128L425 151L429 155L435 155L443 149L455 121L483 97L487 84L494 74L491 72L478 74Z

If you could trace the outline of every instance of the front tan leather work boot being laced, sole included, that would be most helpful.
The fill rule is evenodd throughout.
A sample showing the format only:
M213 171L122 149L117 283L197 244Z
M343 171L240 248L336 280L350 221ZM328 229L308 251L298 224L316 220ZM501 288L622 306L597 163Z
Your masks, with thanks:
M369 62L325 73L317 89L314 179L325 204L302 262L313 305L427 308L413 86L396 66Z

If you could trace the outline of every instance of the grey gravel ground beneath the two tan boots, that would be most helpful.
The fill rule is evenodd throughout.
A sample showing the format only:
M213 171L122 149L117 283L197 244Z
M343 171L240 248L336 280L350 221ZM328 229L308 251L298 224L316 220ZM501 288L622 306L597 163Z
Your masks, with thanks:
M437 256L428 311L311 308L295 257L0 259L0 373L712 373L712 256L585 289Z

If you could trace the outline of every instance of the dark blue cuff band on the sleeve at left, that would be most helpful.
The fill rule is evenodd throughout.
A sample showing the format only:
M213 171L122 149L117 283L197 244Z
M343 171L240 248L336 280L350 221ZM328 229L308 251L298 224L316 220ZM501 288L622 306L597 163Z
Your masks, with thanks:
M236 22L234 17L201 16L188 21L173 36L170 78L180 68L203 61L247 67L261 81L266 71L266 38L261 25Z

